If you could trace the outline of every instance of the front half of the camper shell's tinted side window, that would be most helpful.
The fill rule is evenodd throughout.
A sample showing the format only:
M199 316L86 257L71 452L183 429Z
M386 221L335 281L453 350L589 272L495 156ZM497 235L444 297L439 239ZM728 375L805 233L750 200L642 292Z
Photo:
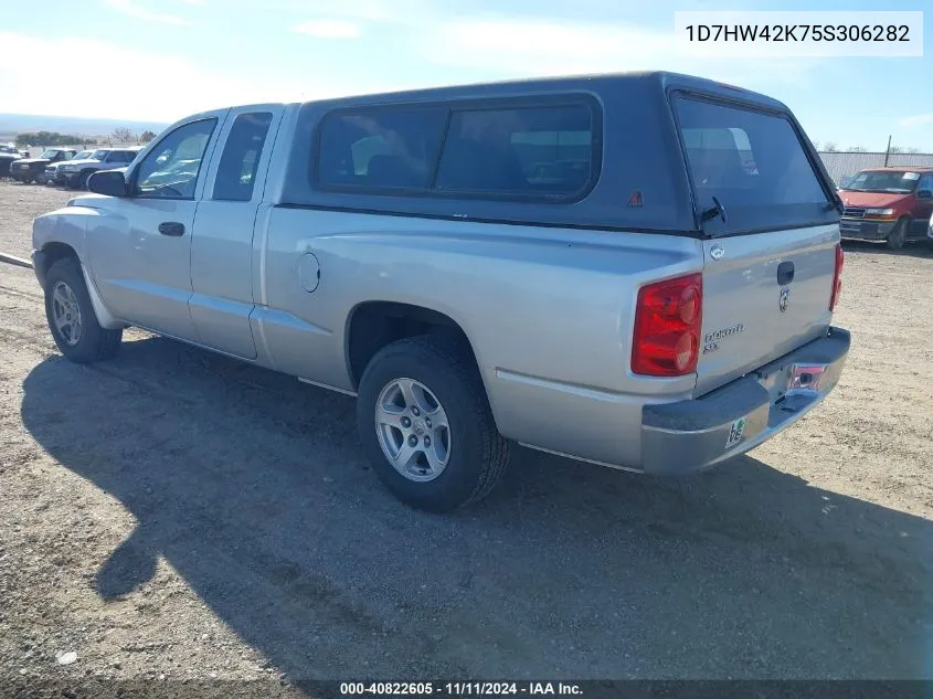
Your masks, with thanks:
M446 115L443 108L328 115L320 127L318 181L372 188L427 188Z

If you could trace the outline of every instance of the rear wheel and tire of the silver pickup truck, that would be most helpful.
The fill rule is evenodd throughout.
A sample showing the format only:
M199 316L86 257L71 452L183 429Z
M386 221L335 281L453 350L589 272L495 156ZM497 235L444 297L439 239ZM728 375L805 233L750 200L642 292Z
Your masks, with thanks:
M404 399L402 383L409 385L410 396L418 396L415 401ZM399 422L385 427L378 415L389 413L378 407L393 395L399 401L392 419ZM420 412L414 410L418 405ZM431 423L432 415L437 424ZM360 380L357 424L377 475L415 509L447 512L478 501L491 493L509 463L511 445L496 428L479 371L469 351L453 339L418 336L380 350ZM432 436L433 446L427 444ZM403 456L401 448L413 437L418 445L414 460L396 468L384 449L395 446ZM427 458L431 448L434 462ZM445 459L437 456L442 453Z

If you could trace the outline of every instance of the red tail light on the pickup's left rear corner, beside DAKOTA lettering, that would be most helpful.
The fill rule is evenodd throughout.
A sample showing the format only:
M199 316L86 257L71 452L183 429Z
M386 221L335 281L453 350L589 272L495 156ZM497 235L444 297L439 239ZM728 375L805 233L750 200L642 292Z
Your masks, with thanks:
M638 290L632 371L682 377L697 370L702 325L703 275L648 284Z

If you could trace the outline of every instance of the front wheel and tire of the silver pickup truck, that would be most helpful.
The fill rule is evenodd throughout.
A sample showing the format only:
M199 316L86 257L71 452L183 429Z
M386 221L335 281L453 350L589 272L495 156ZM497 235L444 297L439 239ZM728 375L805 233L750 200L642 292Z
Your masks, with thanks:
M65 310L62 300L72 307ZM55 345L70 361L86 364L109 359L119 351L123 330L107 330L97 322L81 263L75 257L59 260L45 275L45 318ZM63 322L65 318L71 318L71 326Z

